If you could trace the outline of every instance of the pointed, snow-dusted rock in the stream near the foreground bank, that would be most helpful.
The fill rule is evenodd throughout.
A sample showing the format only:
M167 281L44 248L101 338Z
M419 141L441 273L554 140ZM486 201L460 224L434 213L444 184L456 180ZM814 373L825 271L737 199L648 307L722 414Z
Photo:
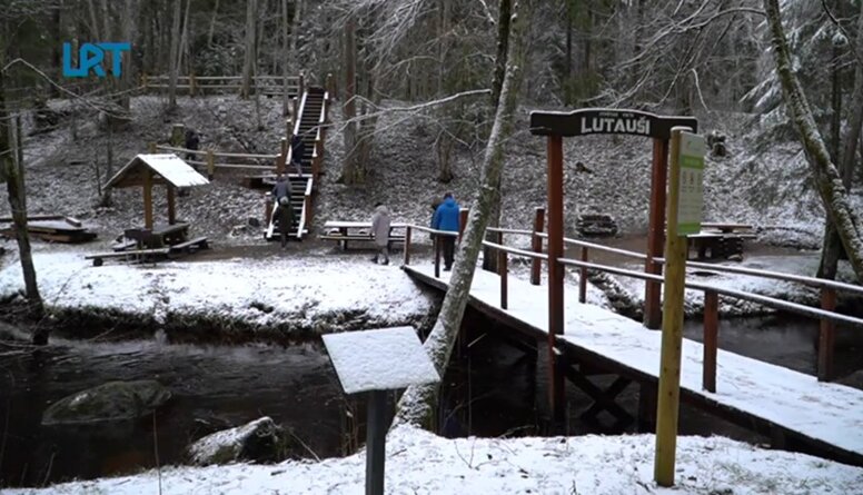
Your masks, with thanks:
M200 466L235 461L276 462L280 461L285 446L284 430L264 416L205 436L189 447L189 456Z

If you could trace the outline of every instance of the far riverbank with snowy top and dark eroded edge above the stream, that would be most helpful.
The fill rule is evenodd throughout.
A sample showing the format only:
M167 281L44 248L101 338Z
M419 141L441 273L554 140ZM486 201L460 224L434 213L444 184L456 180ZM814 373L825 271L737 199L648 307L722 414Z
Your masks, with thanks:
M93 267L89 246L38 246L33 264L50 318L40 325L92 337L122 325L129 337L165 333L169 341L301 341L333 331L429 326L437 298L393 263L365 253L277 245L219 249L177 261ZM7 256L0 300L23 289ZM395 261L395 260L394 260ZM13 307L14 305L9 305ZM7 315L9 316L9 315Z

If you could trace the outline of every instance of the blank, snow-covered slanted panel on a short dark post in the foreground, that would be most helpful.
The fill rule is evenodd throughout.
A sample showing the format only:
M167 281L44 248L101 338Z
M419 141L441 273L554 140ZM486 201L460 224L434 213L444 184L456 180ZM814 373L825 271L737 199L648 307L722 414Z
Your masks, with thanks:
M440 382L411 327L330 334L323 338L346 394Z

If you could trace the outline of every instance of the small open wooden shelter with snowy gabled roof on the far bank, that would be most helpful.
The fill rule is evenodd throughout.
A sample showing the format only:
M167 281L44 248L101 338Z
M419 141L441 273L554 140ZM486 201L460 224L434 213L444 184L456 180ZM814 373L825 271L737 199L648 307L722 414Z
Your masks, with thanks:
M177 222L176 196L178 187L210 184L188 164L173 154L138 155L108 181L107 187L143 188L143 227L152 229L152 187L166 186L168 191L168 224Z

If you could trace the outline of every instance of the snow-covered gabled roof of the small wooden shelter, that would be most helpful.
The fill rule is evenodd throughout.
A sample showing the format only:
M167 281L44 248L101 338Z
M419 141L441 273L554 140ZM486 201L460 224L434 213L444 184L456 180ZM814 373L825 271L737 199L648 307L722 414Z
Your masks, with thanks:
M210 184L206 177L198 174L188 164L182 161L177 155L138 155L123 168L121 168L111 180L110 187L132 187L143 184L142 170L150 168L156 172L153 184L171 184L175 187L206 186Z

